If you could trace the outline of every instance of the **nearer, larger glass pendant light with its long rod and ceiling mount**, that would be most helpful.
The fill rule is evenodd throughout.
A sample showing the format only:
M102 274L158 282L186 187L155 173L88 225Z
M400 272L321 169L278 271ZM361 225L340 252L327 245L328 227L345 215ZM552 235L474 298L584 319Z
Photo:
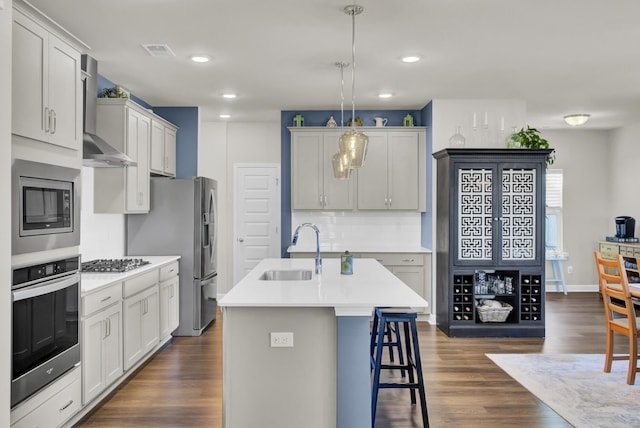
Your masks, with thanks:
M340 137L340 153L347 154L351 158L352 169L364 166L367 156L367 144L369 137L364 132L356 130L356 15L364 11L362 6L349 5L344 8L344 13L351 15L351 129Z

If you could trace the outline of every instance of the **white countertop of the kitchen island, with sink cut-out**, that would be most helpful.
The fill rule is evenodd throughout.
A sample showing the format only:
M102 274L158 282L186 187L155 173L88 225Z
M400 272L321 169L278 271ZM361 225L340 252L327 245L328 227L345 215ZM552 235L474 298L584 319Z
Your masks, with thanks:
M308 281L264 281L266 270L307 269L313 259L264 259L219 302L221 307L333 307L336 316L369 316L376 306L426 308L429 304L375 259L354 259L353 275L340 259L324 259Z

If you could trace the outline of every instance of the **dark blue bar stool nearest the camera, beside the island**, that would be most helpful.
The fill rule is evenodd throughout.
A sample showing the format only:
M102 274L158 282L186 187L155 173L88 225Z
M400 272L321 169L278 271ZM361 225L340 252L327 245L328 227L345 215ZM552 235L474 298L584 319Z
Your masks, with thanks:
M426 428L429 426L429 417L427 415L427 399L424 390L424 377L422 375L422 362L420 360L420 346L418 344L418 328L416 319L418 318L415 311L409 308L376 308L373 331L371 332L373 352L373 385L371 397L371 426L375 426L376 406L378 404L378 391L384 388L409 389L411 394L411 404L416 404L416 389L420 396L420 407L422 409L422 423ZM402 346L398 346L401 352L399 357L400 364L383 364L382 350L387 346L385 339L389 337L385 334L387 326L393 324L403 326L404 330L404 355L402 355ZM376 333L377 330L377 333ZM396 327L396 333L399 339L399 329ZM377 343L373 343L374 340ZM398 340L399 341L399 340ZM406 359L406 364L404 360ZM392 383L380 382L381 370L406 370L409 374L409 382ZM403 376L404 377L404 376Z

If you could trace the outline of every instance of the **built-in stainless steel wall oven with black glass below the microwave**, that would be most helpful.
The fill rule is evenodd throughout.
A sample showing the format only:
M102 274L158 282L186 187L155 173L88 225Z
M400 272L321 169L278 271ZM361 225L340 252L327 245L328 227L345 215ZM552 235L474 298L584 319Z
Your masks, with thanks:
M13 269L11 407L80 364L79 261Z

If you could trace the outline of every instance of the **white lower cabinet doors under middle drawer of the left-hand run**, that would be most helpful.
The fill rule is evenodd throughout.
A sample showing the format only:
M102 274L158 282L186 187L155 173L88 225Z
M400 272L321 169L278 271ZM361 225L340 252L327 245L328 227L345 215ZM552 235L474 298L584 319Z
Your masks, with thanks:
M129 370L160 341L158 286L124 301L124 369Z

